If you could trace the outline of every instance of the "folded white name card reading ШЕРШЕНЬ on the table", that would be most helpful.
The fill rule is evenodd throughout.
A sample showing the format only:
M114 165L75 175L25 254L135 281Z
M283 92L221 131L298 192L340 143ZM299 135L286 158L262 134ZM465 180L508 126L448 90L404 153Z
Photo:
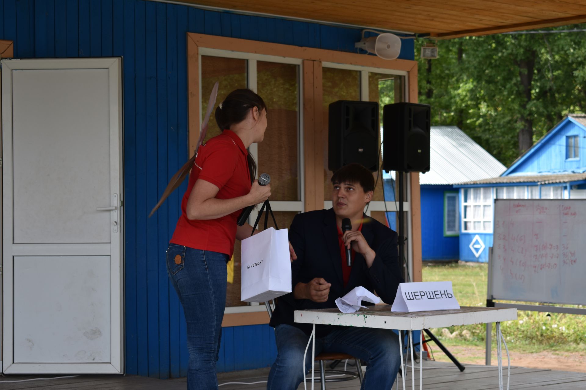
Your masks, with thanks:
M399 284L391 312L427 312L459 308L460 305L454 298L452 282L411 282Z

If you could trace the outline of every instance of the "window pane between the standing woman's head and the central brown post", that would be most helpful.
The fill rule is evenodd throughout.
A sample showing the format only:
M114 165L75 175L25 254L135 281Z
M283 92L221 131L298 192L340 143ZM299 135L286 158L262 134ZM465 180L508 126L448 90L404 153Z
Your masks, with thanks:
M300 201L298 65L257 61L257 90L267 105L267 131L258 143L258 173L271 175L271 199Z

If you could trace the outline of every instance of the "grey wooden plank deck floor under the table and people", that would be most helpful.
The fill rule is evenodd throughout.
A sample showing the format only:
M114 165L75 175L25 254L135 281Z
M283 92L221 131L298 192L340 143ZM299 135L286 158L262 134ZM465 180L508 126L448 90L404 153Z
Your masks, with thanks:
M465 365L464 372L448 363L434 361L424 362L423 386L427 389L438 390L493 390L499 388L498 371L496 367L485 365ZM506 389L506 367L505 389ZM220 390L260 390L266 388L268 368L261 370L236 371L218 375ZM50 376L10 375L0 378L0 390L185 390L185 378L160 380L129 375L80 375L76 377L27 380L35 378L51 378ZM415 372L416 389L419 388L419 373ZM407 370L406 388L411 389L411 370ZM20 382L14 382L20 381ZM260 382L245 385L233 382ZM304 386L299 386L303 389ZM308 386L309 388L309 386ZM319 384L316 384L316 389ZM329 383L328 389L360 389L357 379L348 382ZM399 385L403 388L403 384ZM512 367L510 375L510 390L584 390L586 389L586 374L582 372L552 371L537 368ZM393 386L396 389L396 386Z

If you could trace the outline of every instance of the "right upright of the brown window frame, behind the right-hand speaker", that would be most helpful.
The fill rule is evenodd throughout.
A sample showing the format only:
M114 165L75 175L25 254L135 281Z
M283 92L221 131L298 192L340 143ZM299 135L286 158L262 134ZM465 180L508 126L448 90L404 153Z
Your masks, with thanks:
M409 102L417 103L417 64L408 72L409 80ZM411 248L413 250L413 281L423 281L421 274L421 193L419 185L419 172L411 172L409 177L411 199L409 199L409 212L411 213Z

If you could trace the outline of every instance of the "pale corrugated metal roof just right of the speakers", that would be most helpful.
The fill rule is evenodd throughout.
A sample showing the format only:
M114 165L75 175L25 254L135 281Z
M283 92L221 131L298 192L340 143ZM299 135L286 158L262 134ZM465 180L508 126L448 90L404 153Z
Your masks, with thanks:
M506 170L456 126L432 126L430 168L420 184L455 184L496 177Z

